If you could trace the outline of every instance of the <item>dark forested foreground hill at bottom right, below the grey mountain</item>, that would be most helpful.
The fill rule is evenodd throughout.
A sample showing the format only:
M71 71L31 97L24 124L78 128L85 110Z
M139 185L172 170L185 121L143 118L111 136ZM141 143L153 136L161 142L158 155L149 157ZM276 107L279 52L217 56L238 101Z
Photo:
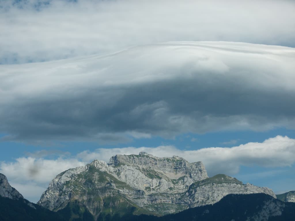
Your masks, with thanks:
M295 203L282 202L270 195L229 194L213 205L195 207L162 217L125 215L108 221L294 221ZM99 220L103 221L103 220Z

